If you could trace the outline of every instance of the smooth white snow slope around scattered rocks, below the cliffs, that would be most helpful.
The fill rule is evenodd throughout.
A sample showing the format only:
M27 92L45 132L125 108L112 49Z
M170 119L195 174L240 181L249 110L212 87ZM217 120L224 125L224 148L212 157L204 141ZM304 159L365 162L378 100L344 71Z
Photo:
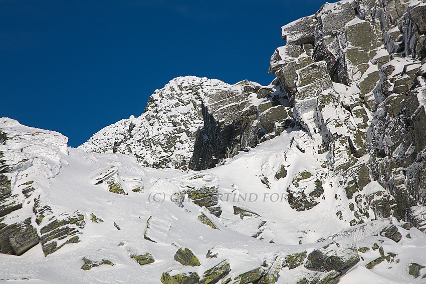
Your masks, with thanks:
M196 271L202 275L224 259L230 262L230 275L236 276L259 267L263 261L272 263L280 254L303 250L310 253L324 245L316 240L344 231L349 226L347 221L340 220L334 214L335 208L342 206L341 200L335 199L335 194L343 195L343 189L321 167L321 157L313 152L314 141L303 130L285 132L247 153L240 153L224 165L203 171L200 176L199 172L194 171L182 173L174 169L143 167L130 155L88 153L67 148L67 138L57 132L22 126L8 118L0 121L2 131L8 133L9 138L0 145L0 149L9 157L17 152L33 161L27 168L16 170L13 189L16 190L19 183L31 178L39 184L38 194L56 211L80 210L86 216L79 243L67 244L46 257L40 244L21 256L0 254L1 278L8 279L5 281L7 283L159 283L164 271ZM47 144L50 144L50 150L44 147ZM305 149L305 153L299 151L296 145ZM17 156L11 161L18 161L22 157ZM37 158L45 164L35 163ZM45 169L46 165L49 165L49 170ZM274 175L281 165L286 167L287 176L276 180ZM143 182L143 191L127 190L128 195L122 195L109 192L102 184L95 185L94 177L99 176L102 169L112 166L118 169L114 174L118 174L122 180L137 179ZM324 198L311 210L297 212L285 199L286 188L293 177L303 170L309 170L322 180ZM261 182L260 176L268 178L270 188ZM188 184L219 186L219 192L223 194L219 200L223 209L221 217L211 215L187 197L180 205L170 200L181 185ZM153 197L155 193L157 195ZM32 205L32 202L24 204L22 210L28 208L27 212L30 213ZM250 209L261 217L245 216L241 219L233 214L234 205ZM197 216L200 212L219 229L199 222ZM92 213L104 222L91 222ZM148 219L148 234L156 238L156 243L143 238ZM266 221L260 228L261 233L257 238L251 237L259 229L260 220ZM117 230L114 223L121 230ZM385 252L396 253L399 261L385 261L368 270L363 265L379 257L377 251L370 250L362 254L364 260L345 274L341 282L422 282L420 277L414 279L408 275L407 267L410 262L426 263L426 235L415 228L410 229L409 233L411 238L403 234L399 243L368 234L352 236L358 247L380 243ZM350 234L344 236L351 237ZM275 243L270 243L270 240ZM299 241L301 244L298 244ZM121 242L124 245L119 246ZM201 265L191 267L176 262L173 255L178 247L190 248ZM209 249L218 253L218 257L206 258ZM146 252L153 255L155 262L141 266L130 257ZM83 257L109 259L115 265L101 265L85 271L81 269ZM296 282L311 272L303 265L291 270L283 267L277 283ZM426 271L420 272L424 274Z

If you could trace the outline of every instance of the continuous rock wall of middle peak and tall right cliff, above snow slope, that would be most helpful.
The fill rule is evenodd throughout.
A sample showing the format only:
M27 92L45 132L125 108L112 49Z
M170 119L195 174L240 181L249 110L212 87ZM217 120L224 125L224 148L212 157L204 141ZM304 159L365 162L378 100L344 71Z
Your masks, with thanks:
M104 128L80 148L203 170L297 124L359 205L352 224L369 219L369 206L377 216L421 222L410 208L424 204L426 192L425 7L402 0L325 4L282 27L286 45L271 57L271 85L176 78L140 117ZM384 188L381 197L362 193L371 180Z

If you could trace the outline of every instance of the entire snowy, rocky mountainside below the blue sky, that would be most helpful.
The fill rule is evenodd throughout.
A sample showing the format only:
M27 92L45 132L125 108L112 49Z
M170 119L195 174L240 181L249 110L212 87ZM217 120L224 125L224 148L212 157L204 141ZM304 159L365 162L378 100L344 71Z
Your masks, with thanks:
M0 118L1 280L426 281L426 2L281 36L270 85L178 77L77 149Z

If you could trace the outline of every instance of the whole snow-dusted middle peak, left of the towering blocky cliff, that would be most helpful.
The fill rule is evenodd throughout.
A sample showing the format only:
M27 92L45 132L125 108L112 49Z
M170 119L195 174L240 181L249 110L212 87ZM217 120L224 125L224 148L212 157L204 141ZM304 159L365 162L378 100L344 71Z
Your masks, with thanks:
M229 116L227 124L233 120L232 115L236 114L236 117L243 115L244 121L239 123L243 124L240 127L244 130L246 124L249 122L252 124L254 119L257 119L253 118L257 113L256 106L248 109L248 106L252 105L252 100L257 96L265 97L276 91L273 87L261 87L247 80L229 85L220 80L194 76L175 78L149 97L145 112L141 116L137 118L132 116L103 128L79 148L95 153L118 152L135 155L141 165L155 168L176 168L184 171L188 169L190 163L192 168L214 167L216 163L226 157L232 157L242 148L234 145L232 150L225 149L232 141L234 144L240 143L235 142L238 137L228 137L228 140L219 143L220 145L202 144L207 134L212 135L210 132L205 134L206 127L199 129L203 126L203 121L209 121L206 104L218 101L214 104L215 109L211 107L209 109L218 112L219 120ZM243 113L246 107L247 111ZM270 115L274 114L271 112ZM227 127L227 131L230 132L231 128L236 127L238 126L234 123ZM228 136L238 136L228 132L226 133ZM255 137L247 137L249 135L247 134L241 138L254 141L240 143L244 147L254 146L257 143L257 133L252 132L255 132ZM220 135L223 136L225 133ZM250 135L253 136L252 133ZM195 140L198 142L194 146ZM211 147L218 149L207 150ZM226 153L227 151L230 153ZM218 158L211 158L212 155L218 155ZM197 166L200 159L203 160L202 166Z

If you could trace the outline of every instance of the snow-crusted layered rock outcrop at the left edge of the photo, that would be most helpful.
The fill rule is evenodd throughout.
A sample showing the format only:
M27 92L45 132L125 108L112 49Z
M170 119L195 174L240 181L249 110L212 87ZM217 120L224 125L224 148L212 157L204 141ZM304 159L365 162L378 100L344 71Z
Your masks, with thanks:
M21 255L41 242L48 255L79 242L84 214L52 209L42 190L59 173L68 139L12 119L0 124L0 252Z

